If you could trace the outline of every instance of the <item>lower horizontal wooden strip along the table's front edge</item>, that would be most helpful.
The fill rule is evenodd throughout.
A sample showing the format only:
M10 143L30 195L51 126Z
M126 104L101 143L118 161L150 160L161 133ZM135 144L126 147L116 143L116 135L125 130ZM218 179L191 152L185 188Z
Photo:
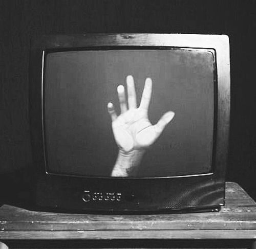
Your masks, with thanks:
M183 230L183 231L6 231L5 239L256 239L256 230Z

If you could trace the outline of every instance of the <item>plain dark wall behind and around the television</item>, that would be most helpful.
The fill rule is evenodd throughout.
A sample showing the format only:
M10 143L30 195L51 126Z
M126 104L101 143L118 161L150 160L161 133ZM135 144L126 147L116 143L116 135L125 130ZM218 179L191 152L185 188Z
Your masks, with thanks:
M256 199L256 1L0 1L0 173L4 197L29 197L30 39L68 33L227 34L231 130L227 180ZM10 197L11 196L11 197Z

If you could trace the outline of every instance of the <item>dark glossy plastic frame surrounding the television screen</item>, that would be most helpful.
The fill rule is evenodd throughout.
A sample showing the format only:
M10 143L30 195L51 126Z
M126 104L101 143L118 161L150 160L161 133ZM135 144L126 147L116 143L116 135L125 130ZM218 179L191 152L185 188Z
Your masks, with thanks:
M216 52L212 172L166 177L87 177L46 172L44 59L47 52L90 49L213 49ZM87 213L217 211L224 205L230 64L226 35L80 34L42 36L30 54L30 131L35 203L41 209Z

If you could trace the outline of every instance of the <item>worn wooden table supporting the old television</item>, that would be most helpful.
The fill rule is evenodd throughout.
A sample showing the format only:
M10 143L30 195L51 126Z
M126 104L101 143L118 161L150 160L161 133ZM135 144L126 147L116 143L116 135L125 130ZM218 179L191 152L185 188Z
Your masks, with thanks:
M0 208L0 239L7 245L18 240L44 240L49 243L51 240L69 240L68 243L75 243L78 240L113 239L246 239L253 242L256 240L256 203L238 184L228 182L226 205L219 212L88 215L35 212L3 205ZM126 244L124 247L129 245Z

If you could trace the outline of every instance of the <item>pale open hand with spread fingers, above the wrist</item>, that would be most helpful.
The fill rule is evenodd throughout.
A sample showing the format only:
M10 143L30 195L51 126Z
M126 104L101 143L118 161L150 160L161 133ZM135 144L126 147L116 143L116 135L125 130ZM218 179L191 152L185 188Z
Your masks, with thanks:
M164 127L173 119L174 112L166 112L157 124L152 125L148 120L148 106L152 95L152 80L147 78L141 97L140 106L137 107L136 92L134 79L132 76L127 76L127 102L125 100L125 90L123 85L117 87L118 98L120 102L121 114L116 115L112 103L108 103L108 111L112 118L112 128L114 137L119 148L125 152L133 150L145 149L152 145Z

